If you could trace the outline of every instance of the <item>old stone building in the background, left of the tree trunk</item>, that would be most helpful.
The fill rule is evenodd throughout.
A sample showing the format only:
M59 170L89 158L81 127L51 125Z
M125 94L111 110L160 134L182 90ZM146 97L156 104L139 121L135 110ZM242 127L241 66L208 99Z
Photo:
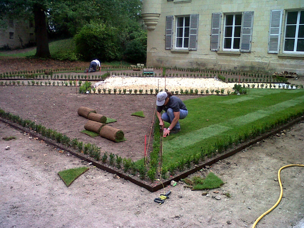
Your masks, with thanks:
M28 20L7 19L7 25L0 28L0 48L25 47L35 42L34 25Z

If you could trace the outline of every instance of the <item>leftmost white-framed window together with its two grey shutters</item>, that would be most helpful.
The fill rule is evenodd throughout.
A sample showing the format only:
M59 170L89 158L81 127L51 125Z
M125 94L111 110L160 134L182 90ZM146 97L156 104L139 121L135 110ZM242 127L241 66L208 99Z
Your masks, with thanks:
M198 29L198 14L166 16L165 49L197 50Z

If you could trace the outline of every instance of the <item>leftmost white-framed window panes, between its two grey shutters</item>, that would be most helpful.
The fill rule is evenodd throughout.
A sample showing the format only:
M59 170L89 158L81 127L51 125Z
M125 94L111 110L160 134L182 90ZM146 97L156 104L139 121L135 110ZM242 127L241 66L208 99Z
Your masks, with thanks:
M176 48L188 49L189 47L190 16L177 17L176 20Z

